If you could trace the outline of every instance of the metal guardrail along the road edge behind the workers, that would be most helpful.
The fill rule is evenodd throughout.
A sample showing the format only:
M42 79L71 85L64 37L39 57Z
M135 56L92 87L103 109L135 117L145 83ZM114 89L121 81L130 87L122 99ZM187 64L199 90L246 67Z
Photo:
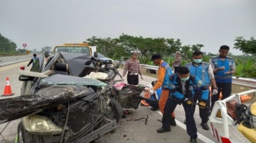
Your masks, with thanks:
M118 63L119 61L114 60L113 62ZM123 62L122 64L125 64L125 62ZM139 65L141 68L152 69L152 70L158 71L158 66L155 66L155 65L143 65L143 64L139 64ZM238 85L245 86L245 87L256 88L256 80L251 79L251 78L232 77L232 84L238 84Z

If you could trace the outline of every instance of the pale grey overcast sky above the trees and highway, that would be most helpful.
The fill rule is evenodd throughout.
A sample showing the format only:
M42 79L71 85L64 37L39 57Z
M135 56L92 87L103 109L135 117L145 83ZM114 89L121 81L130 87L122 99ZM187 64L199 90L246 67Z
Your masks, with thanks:
M180 39L203 52L256 38L255 0L1 0L0 33L27 49L82 43L93 36ZM234 55L242 54L231 49Z

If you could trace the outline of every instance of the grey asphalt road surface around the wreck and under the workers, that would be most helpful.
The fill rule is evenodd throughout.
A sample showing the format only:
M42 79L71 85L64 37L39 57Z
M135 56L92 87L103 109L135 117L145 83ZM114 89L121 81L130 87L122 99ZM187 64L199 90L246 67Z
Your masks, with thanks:
M28 61L27 61L28 62ZM11 91L14 93L11 97L17 97L21 94L21 81L18 81L18 68L22 65L27 65L27 62L20 62L14 65L7 65L0 67L0 94L4 92L5 89L5 78L8 77L11 84ZM30 68L30 67L26 67ZM123 71L120 69L120 73ZM155 78L144 76L144 80L139 80L139 84L150 84ZM126 82L126 81L124 81ZM4 99L7 97L0 97ZM174 111L176 115L177 126L171 126L171 132L166 132L158 134L156 132L162 126L162 123L158 119L162 119L162 114L159 111L152 111L148 106L139 106L138 110L131 110L132 113L128 115L125 119L122 119L114 133L108 133L99 138L97 143L108 143L108 142L189 142L190 137L187 135L186 126L184 125L184 110L182 106L177 106ZM146 119L139 119L148 116L148 121ZM217 142L211 131L203 130L200 126L200 117L198 115L198 110L194 115L197 123L198 138L197 142ZM8 124L4 132L2 130L5 128L7 123L0 125L0 142L12 143L15 141L17 134L18 122L21 119L12 121ZM1 133L0 133L1 134ZM2 138L2 136L4 138Z

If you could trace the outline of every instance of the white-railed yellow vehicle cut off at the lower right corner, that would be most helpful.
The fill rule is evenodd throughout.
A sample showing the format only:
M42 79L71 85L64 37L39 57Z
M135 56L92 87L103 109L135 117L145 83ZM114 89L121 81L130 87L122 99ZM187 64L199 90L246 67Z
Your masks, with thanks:
M216 138L217 141L221 143L256 142L256 116L253 114L249 116L250 122L254 122L255 125L250 129L243 123L245 122L245 118L248 118L248 116L243 116L241 118L242 122L235 126L236 120L232 119L232 117L227 113L226 103L228 101L235 100L238 104L241 104L241 96L248 96L248 94L252 97L256 97L256 90L254 89L238 94L232 94L230 97L224 100L218 100L214 103L213 110L210 114L210 128L213 137ZM246 107L248 106L248 109L250 110L253 110L252 108L256 107L250 106L250 103L244 104ZM256 105L256 103L253 104Z

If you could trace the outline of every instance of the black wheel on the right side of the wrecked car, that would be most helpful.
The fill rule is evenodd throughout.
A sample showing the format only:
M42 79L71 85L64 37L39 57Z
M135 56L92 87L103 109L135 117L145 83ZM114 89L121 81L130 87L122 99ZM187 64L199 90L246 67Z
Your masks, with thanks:
M109 119L116 119L117 123L120 122L120 119L122 118L123 115L123 108L117 100L114 100L113 98L110 98L110 112L107 113L107 117Z

